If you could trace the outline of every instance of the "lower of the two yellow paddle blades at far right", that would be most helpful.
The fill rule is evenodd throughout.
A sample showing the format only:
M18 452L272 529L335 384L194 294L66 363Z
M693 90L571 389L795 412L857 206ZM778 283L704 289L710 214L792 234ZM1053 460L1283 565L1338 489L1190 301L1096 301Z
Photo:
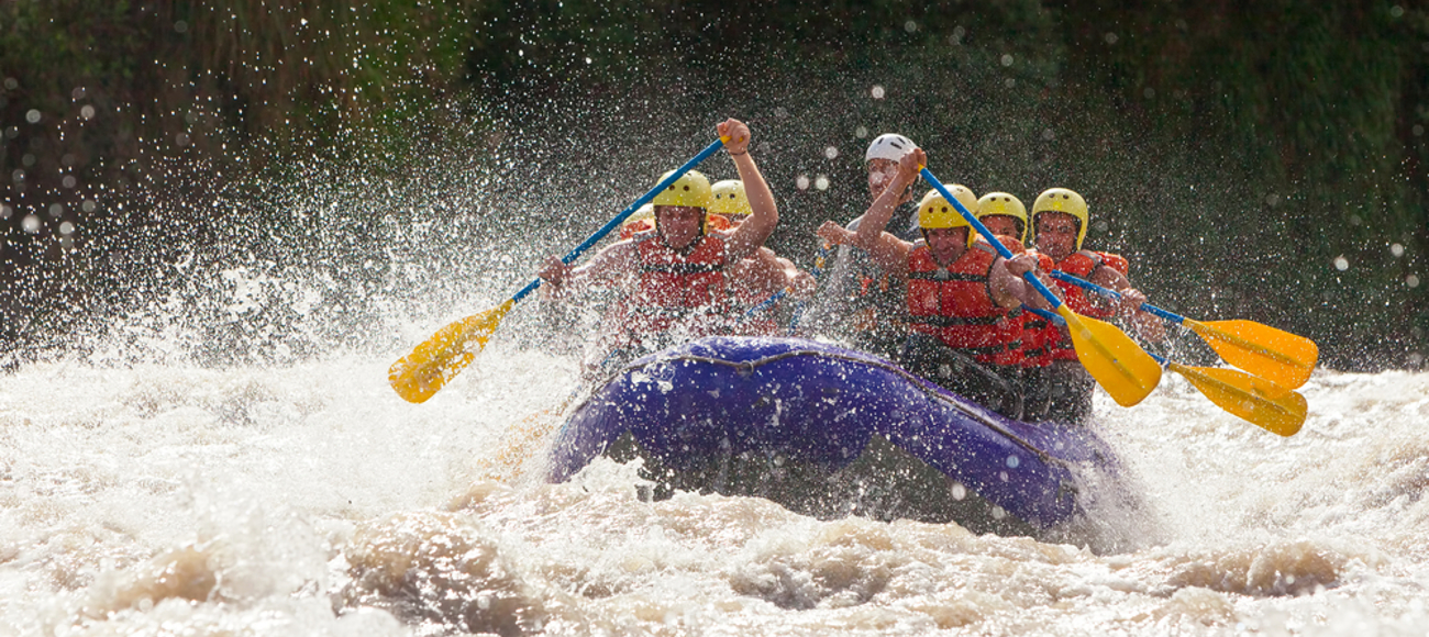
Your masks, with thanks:
M1306 404L1299 391L1238 370L1186 367L1170 363L1218 407L1266 431L1295 436L1305 424Z

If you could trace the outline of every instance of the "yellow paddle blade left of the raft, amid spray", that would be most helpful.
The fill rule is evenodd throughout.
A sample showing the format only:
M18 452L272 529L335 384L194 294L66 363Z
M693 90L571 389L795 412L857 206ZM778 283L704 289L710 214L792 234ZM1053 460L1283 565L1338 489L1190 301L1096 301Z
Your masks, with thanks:
M476 354L486 347L496 326L514 306L507 300L500 307L473 314L437 330L410 354L392 364L387 383L409 403L426 403L446 381L456 377ZM474 347L472 347L474 344Z

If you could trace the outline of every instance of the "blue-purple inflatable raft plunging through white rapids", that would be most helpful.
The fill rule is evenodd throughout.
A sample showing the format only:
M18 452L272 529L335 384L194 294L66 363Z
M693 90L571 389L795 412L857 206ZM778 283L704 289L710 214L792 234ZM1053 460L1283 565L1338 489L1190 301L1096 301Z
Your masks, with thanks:
M666 488L977 531L1065 526L1117 471L1086 428L1010 420L885 358L802 338L710 337L636 360L572 411L547 478L602 453L643 457Z

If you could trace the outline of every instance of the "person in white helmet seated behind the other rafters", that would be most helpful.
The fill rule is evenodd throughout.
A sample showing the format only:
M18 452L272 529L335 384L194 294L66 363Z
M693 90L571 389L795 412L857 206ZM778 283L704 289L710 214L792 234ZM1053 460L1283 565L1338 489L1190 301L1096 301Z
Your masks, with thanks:
M917 150L913 140L885 133L873 139L863 153L869 179L869 201L879 199L893 183L899 160ZM905 186L896 197L899 207L913 200L912 184ZM895 211L896 220L890 231L903 240L916 240L917 209ZM899 320L902 316L902 290L897 281L883 276L867 259L863 250L853 246L853 237L863 223L863 216L839 226L825 221L816 231L827 246L839 246L839 254L829 269L827 291L823 303L805 320L816 331L850 341L857 348L892 357L906 334Z

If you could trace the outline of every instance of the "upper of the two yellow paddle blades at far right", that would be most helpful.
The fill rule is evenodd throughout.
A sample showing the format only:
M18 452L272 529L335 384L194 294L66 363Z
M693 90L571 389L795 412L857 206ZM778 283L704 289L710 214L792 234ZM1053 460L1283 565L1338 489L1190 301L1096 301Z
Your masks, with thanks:
M1260 323L1186 320L1226 363L1275 384L1298 388L1310 378L1320 350L1315 341Z

